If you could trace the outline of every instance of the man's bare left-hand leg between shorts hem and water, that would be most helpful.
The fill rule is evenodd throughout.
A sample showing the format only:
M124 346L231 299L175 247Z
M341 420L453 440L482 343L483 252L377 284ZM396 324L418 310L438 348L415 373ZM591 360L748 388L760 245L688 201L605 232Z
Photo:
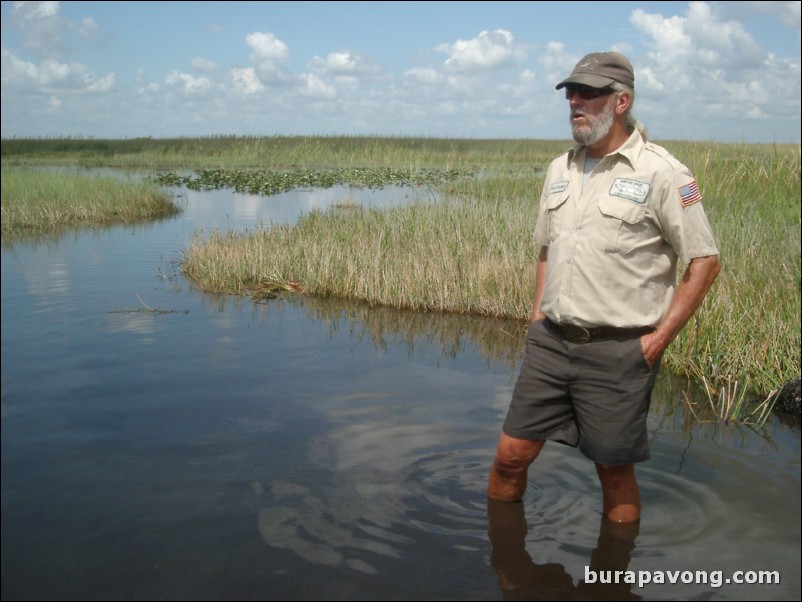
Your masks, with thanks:
M503 502L520 500L526 491L526 473L529 465L543 449L545 441L515 439L501 434L496 458L490 468L487 496Z

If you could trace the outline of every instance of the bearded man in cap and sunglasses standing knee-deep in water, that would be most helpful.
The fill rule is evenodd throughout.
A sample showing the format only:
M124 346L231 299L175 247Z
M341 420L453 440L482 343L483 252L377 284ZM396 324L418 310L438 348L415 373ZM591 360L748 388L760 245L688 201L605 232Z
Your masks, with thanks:
M540 197L531 324L488 497L519 500L529 465L558 441L595 462L603 515L634 522L659 361L718 275L718 249L690 171L631 114L629 60L589 54L562 88L578 144L551 163Z

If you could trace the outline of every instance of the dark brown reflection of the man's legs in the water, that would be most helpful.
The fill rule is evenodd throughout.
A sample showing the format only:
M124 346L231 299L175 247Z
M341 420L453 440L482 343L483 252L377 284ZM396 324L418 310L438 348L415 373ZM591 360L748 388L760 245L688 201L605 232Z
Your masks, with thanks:
M536 563L526 550L528 527L522 502L487 501L490 564L505 600L641 600L622 577L635 549L639 523L601 519L596 548L585 575L574 585L561 564ZM618 576L618 578L616 577Z

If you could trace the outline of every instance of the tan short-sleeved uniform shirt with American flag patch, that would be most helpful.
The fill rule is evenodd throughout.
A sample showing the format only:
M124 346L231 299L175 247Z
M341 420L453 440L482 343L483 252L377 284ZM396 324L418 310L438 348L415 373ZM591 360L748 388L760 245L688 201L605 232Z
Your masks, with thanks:
M677 260L718 255L687 167L636 130L582 187L585 149L555 159L535 243L548 247L540 309L578 326L656 326L677 284Z

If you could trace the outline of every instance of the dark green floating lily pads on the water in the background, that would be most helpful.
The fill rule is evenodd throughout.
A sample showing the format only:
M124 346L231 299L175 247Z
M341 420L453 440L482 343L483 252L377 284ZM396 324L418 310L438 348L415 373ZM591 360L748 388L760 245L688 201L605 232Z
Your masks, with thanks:
M396 186L438 186L459 178L470 177L467 169L391 169L351 167L331 170L297 169L293 171L238 169L204 169L196 176L181 176L173 172L154 176L166 186L186 186L190 190L231 188L248 194L273 195L295 188L331 188L337 185L360 188Z

